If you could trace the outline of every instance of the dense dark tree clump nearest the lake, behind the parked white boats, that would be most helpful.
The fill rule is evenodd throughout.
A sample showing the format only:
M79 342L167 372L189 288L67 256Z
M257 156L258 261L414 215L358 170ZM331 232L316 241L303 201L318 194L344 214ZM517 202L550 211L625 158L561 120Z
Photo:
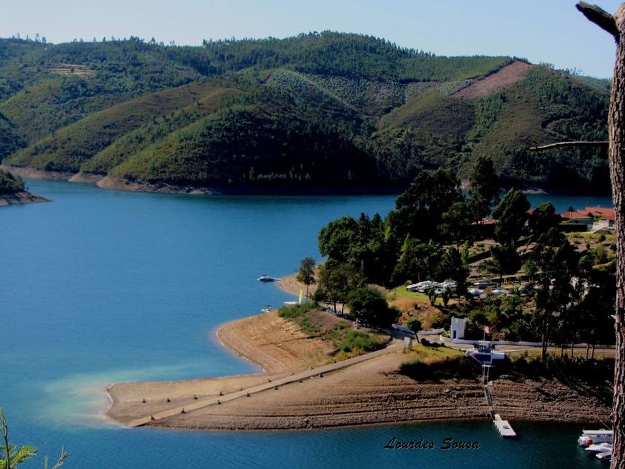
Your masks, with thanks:
M367 283L449 279L464 293L467 248L461 243L471 237L472 223L490 213L498 194L488 158L477 159L467 196L451 169L421 171L386 219L361 214L327 224L319 232L319 252L359 271ZM456 246L443 248L445 243Z

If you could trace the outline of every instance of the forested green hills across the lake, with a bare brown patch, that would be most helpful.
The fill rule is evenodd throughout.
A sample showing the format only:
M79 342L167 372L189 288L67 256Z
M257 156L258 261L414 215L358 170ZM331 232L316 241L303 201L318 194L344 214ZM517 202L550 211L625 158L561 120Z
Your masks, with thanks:
M486 154L513 184L601 191L604 148L528 148L606 139L608 101L604 80L358 34L0 39L2 163L107 186L391 191L424 168L466 174Z

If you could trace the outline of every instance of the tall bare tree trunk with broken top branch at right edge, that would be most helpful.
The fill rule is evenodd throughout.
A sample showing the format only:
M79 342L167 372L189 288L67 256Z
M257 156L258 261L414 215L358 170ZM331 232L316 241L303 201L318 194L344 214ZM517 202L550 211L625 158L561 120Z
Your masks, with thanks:
M616 61L607 117L610 178L616 232L616 361L614 363L614 403L612 406L611 469L625 469L625 4L614 16L595 5L580 2L577 9L592 23L612 34L616 41Z

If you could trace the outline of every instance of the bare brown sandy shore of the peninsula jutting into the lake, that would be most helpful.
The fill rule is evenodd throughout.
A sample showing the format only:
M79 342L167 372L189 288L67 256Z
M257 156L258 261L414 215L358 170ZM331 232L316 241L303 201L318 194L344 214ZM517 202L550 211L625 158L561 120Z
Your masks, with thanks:
M398 373L408 356L397 341L373 358L363 355L356 358L362 361L319 373L342 366L332 364L331 344L308 338L276 311L226 323L216 333L263 371L120 383L108 390L113 403L107 415L124 424L199 430L294 430L487 415L479 380L414 381ZM507 376L495 380L491 390L497 412L509 420L597 424L597 416L609 418L610 407L596 390L574 391L558 380Z

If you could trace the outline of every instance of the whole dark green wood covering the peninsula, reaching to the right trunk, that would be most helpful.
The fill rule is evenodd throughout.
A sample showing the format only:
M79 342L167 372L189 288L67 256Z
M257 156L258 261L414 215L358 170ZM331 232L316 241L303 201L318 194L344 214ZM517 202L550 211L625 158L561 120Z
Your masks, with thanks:
M444 303L451 295L466 298L452 314L468 316L469 333L476 336L490 325L505 340L542 341L545 353L547 343L560 344L562 353L579 341L611 343L613 321L606 311L614 304L614 266L597 268L606 261L603 246L579 252L559 229L561 218L551 203L529 211L521 191L510 189L501 199L499 194L492 161L479 158L466 195L449 169L422 171L386 219L361 214L331 221L319 232L319 251L328 260L320 268L317 299L349 305L358 295L378 301L376 314L369 311L366 317L388 325L396 311L384 310L382 300L374 301L379 292L365 293L365 285L452 280L456 288L444 290ZM497 245L484 268L501 279L522 267L529 281L484 302L467 295L469 246L491 213ZM521 255L519 246L529 249ZM359 311L361 303L354 307Z

